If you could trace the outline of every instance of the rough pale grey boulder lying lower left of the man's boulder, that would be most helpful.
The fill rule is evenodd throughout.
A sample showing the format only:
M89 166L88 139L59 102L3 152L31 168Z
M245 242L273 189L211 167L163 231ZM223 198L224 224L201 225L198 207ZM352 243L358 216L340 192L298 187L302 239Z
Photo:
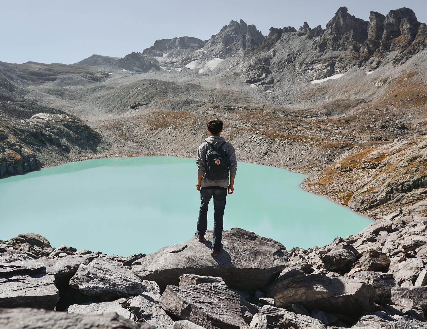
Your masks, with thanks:
M155 282L141 280L129 268L102 258L80 265L70 280L70 287L105 300L137 296L143 292L160 295Z

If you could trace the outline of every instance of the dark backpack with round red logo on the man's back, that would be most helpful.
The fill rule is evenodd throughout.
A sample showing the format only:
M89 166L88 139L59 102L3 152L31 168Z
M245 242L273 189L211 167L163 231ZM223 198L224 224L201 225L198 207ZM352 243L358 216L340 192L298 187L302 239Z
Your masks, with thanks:
M219 147L208 144L210 148L206 152L206 178L211 180L228 178L228 155L222 149L225 141Z

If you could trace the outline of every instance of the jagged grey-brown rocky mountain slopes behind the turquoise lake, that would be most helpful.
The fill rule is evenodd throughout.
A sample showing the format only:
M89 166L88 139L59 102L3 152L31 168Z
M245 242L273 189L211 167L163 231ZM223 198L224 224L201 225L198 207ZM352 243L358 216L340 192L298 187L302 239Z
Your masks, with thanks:
M370 216L421 207L423 156L404 168L422 150L387 144L418 145L427 132L426 31L411 9L364 21L341 7L325 29L304 22L264 36L232 20L209 40L156 40L123 58L0 63L1 176L100 156L193 156L204 122L220 115L243 161L311 173L306 188ZM183 140L179 150L173 139ZM360 194L366 170L391 164L348 165L358 153L402 154L393 169L400 180L384 176L374 196ZM330 193L337 182L345 189ZM412 187L401 196L386 192L389 184ZM365 197L378 201L368 206Z

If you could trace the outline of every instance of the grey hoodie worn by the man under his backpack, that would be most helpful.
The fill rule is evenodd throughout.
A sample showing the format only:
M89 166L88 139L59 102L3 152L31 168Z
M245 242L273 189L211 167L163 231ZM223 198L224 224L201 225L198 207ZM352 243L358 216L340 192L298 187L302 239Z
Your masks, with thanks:
M207 139L205 139L205 142L200 144L199 148L197 149L197 160L196 160L197 174L203 175L202 187L203 186L205 187L220 186L222 188L228 188L228 185L230 184L228 177L225 179L215 179L215 180L210 180L206 178L206 152L208 151L208 148L209 148L208 143L213 144L215 147L219 147L219 145L223 141L225 141L224 137L210 136ZM222 148L225 148L225 152L228 155L228 169L230 170L230 176L234 177L236 176L236 170L237 170L236 151L234 150L233 145L231 145L228 142L225 142Z

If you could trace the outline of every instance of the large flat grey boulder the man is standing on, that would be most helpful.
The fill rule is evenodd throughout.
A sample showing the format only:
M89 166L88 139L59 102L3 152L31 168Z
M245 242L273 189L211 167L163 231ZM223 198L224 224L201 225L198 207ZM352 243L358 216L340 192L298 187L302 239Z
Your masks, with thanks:
M224 231L224 251L211 255L212 231L207 242L192 238L170 245L132 264L144 280L153 280L163 291L168 284L178 286L182 274L222 277L225 283L241 290L263 290L287 266L286 247L280 242L253 232L232 228Z

